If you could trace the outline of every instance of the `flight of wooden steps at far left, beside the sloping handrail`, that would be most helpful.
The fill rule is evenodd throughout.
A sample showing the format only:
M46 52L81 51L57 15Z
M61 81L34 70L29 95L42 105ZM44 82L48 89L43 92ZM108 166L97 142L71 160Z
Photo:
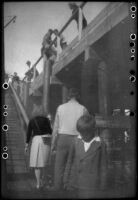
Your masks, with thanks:
M27 173L24 133L20 126L18 112L10 90L5 94L5 104L8 105L8 116L5 120L8 125L6 133L6 144L8 147L7 173Z

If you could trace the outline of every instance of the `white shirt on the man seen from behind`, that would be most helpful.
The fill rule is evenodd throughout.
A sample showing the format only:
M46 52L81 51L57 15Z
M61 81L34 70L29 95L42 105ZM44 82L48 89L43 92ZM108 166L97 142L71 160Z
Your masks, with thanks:
M53 132L78 135L79 132L76 129L77 120L86 112L86 108L76 100L70 100L60 105L57 109Z

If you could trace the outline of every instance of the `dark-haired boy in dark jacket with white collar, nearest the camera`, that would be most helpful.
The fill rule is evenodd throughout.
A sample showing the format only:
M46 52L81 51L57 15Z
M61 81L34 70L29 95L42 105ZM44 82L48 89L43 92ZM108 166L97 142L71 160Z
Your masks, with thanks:
M95 118L83 115L77 121L80 135L72 145L65 183L76 188L78 197L97 197L104 189L107 158L105 144L95 136Z

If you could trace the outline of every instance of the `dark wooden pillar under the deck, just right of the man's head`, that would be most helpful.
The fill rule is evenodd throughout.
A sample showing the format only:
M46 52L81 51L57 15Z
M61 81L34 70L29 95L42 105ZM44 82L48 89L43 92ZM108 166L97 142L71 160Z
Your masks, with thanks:
M81 71L81 102L90 113L98 112L98 78L97 65L99 57L87 46Z

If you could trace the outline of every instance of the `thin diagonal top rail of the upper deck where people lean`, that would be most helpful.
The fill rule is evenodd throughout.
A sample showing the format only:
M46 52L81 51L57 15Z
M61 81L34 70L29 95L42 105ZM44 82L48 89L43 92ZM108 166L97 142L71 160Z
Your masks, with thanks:
M79 7L80 8L83 8L84 6L85 6L85 4L86 4L87 2L85 1L85 2L83 2ZM68 19L68 21L66 22L66 24L62 27L62 29L59 31L59 35L61 35L61 33L66 29L66 27L70 24L70 22L72 21L72 19L73 19L73 17L75 16L75 14L77 13L77 9L76 9L76 11L74 12L74 14ZM52 41L52 43L50 44L50 47L55 43L55 41L56 41L56 38ZM34 65L27 71L27 72L29 72L29 71L31 71L38 63L39 63L39 61L42 59L42 55L38 58L38 60L34 63Z

